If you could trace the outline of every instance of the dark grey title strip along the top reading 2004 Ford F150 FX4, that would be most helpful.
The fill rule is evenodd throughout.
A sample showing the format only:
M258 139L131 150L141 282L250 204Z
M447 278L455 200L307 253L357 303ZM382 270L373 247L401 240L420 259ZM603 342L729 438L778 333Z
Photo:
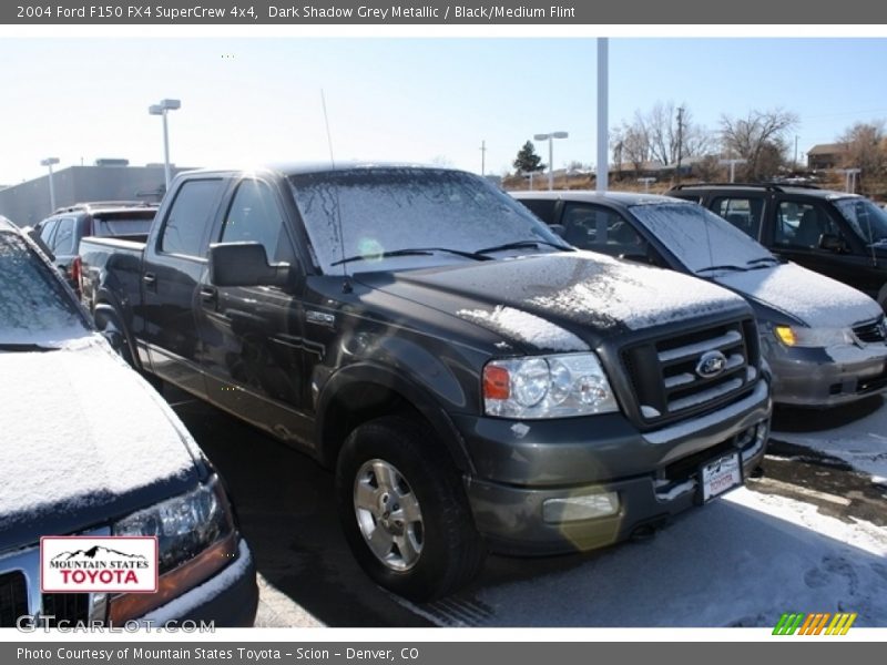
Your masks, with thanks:
M803 7L803 10L802 10ZM711 2L578 2L574 0L322 0L255 2L254 0L20 0L0 7L0 21L12 24L864 24L887 23L887 3L845 0L839 3Z

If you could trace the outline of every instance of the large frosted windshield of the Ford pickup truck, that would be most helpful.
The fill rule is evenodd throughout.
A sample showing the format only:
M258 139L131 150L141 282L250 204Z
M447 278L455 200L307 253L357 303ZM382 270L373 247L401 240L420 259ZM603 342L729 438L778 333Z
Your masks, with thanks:
M327 274L343 265L349 273L408 269L570 249L527 208L469 173L365 168L299 174L289 182Z

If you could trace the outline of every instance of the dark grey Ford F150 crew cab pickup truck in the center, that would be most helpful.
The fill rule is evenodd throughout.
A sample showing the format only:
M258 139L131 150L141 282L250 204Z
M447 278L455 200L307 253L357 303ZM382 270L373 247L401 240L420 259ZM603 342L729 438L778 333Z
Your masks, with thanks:
M574 250L468 173L191 172L146 244L81 255L120 352L335 469L357 560L414 600L488 550L649 532L764 454L742 298Z

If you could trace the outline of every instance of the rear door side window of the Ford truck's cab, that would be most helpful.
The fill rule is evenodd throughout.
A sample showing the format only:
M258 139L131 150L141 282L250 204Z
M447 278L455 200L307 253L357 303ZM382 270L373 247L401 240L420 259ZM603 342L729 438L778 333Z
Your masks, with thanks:
M161 252L203 255L203 235L222 192L222 180L188 181L179 190L161 237Z

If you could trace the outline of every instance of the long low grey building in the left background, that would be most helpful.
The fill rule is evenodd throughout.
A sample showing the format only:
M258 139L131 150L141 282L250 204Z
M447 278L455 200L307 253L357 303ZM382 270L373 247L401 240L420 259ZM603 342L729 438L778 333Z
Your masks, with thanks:
M190 168L171 166L173 175ZM129 166L126 160L98 160L93 166L69 166L52 174L55 207L86 201L159 202L165 192L163 164ZM49 174L0 188L0 215L33 226L52 213Z

